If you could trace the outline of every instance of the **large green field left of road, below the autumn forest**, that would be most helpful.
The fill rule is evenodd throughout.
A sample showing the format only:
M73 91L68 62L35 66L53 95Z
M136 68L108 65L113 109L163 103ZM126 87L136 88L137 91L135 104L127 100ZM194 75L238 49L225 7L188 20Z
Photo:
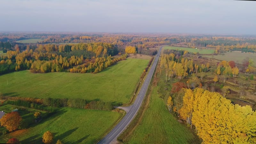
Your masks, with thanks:
M0 92L4 96L82 98L126 103L148 61L122 60L97 74L33 74L29 71L9 73L0 76Z

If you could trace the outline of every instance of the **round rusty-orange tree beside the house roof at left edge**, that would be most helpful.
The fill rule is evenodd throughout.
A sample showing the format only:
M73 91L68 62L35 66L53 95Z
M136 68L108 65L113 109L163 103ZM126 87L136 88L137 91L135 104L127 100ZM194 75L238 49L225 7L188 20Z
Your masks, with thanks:
M17 130L21 121L22 118L18 112L7 113L0 119L1 126L6 127L9 132Z

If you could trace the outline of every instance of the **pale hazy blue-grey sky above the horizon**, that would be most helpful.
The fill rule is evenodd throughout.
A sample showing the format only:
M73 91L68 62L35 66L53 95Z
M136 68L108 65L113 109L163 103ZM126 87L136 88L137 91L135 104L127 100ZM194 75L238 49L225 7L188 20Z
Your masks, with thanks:
M256 1L0 0L0 31L256 35Z

